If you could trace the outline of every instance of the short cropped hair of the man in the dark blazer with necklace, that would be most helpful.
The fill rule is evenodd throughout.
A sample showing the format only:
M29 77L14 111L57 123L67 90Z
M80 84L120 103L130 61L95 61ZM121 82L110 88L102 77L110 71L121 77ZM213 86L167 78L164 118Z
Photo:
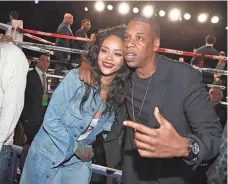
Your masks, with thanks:
M131 21L139 21L148 24L154 36L160 38L160 26L158 21L154 17L147 18L145 16L136 16L133 19L131 19Z

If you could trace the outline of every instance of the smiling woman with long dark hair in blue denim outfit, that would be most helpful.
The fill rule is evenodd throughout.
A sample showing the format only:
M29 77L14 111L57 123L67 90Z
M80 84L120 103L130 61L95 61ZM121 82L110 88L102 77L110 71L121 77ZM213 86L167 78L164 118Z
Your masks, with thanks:
M72 70L54 92L26 159L21 184L89 184L92 143L111 130L124 102L129 70L123 56L124 28L98 33L89 48L95 87Z

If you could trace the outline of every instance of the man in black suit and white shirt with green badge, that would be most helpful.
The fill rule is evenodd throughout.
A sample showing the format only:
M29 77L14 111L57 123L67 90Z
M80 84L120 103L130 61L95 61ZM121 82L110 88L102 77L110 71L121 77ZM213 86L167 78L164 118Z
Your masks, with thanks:
M42 125L48 105L48 83L45 74L49 65L50 56L41 54L35 69L28 72L25 105L20 118L27 138L20 159L21 170L23 169L28 149Z

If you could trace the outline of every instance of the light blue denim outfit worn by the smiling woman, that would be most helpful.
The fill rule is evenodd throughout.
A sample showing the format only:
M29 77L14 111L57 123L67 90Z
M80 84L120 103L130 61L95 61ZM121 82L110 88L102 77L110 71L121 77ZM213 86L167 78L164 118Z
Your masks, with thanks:
M80 110L85 84L79 80L78 73L78 70L69 72L55 90L43 125L31 144L21 184L89 183L91 162L82 162L74 152L78 137L87 130L101 104L101 97L98 91L95 101L93 92L97 89L92 88L83 111ZM102 116L83 144L91 145L96 135L110 131L114 118L114 113ZM84 179L79 182L79 177Z

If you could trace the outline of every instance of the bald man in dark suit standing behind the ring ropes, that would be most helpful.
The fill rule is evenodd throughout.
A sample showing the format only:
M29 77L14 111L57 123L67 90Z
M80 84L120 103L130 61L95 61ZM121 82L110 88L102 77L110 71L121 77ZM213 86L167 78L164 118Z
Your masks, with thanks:
M74 18L73 15L70 13L66 13L63 18L63 22L59 25L57 33L73 36L70 26L73 24ZM63 39L63 38L56 38L55 45L59 47L71 47L71 40L69 39ZM67 52L60 52L55 51L55 57L57 60L60 60L62 62L69 62L70 61L70 53ZM67 67L64 64L55 63L54 64L54 75L64 75L63 70L66 70ZM59 84L59 79L53 78L51 81L51 89L55 90L56 87Z

